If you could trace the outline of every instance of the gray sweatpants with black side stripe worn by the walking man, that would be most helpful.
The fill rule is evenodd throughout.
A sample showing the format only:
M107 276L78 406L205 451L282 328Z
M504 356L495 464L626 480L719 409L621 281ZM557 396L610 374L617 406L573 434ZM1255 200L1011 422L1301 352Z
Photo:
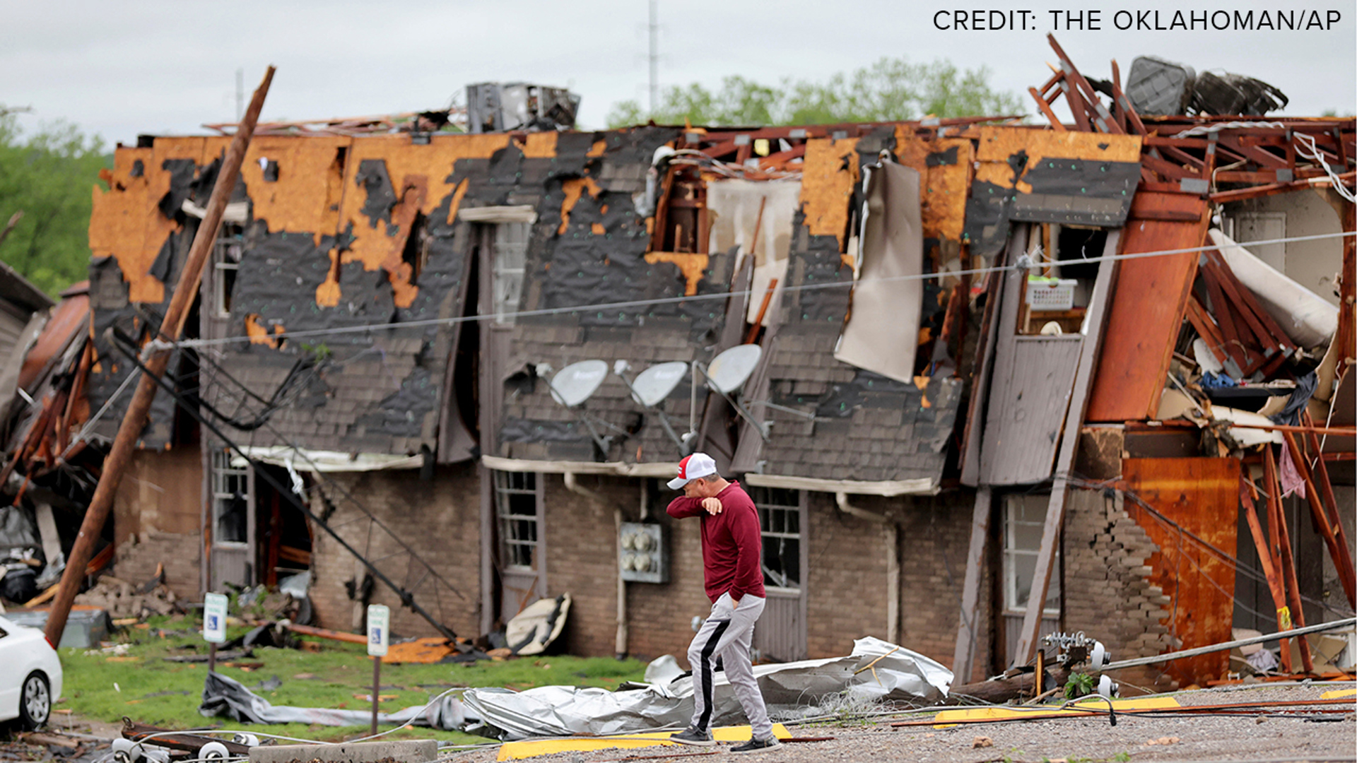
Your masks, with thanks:
M692 667L692 696L695 707L692 725L711 728L711 683L716 657L726 668L726 680L735 690L735 699L745 709L754 739L772 736L772 722L764 706L763 694L749 663L749 645L754 637L754 622L763 614L764 599L744 596L740 608L730 606L730 595L722 593L711 606L711 616L702 623L697 635L688 645L688 664Z

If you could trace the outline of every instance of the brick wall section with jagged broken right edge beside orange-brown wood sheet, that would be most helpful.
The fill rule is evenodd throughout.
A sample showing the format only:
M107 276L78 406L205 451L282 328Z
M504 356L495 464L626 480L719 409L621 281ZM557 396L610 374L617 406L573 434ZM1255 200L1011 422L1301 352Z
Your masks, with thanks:
M1102 641L1113 660L1167 652L1168 597L1149 584L1145 566L1155 551L1155 543L1122 509L1120 494L1071 490L1064 534L1064 630L1082 630ZM1114 679L1122 682L1124 694L1139 694L1134 687L1177 688L1148 665L1120 671Z

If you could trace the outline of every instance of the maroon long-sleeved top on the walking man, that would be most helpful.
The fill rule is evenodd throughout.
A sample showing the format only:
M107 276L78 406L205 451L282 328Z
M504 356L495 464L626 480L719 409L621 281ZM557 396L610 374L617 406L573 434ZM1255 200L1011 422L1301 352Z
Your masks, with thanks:
M731 482L716 498L722 509L715 516L702 508L702 498L687 496L670 501L665 510L674 519L702 517L702 566L708 599L715 601L722 593L735 600L745 595L764 599L759 509L738 482Z

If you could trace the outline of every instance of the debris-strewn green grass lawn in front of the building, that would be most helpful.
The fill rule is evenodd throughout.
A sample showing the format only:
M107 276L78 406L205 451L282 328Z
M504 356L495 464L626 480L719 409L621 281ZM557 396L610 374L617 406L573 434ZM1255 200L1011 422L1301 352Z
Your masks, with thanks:
M206 644L198 637L198 623L191 618L163 618L152 620L151 629L128 629L118 639L132 648L123 657L92 653L84 649L62 649L61 665L65 671L64 699L58 709L69 709L81 718L119 722L123 715L141 724L172 729L248 728L252 732L338 741L365 736L364 726L319 726L304 724L240 725L228 718L205 718L198 714L202 683L208 667L204 663L170 663L171 654L206 654ZM191 635L155 635L159 629L193 631ZM247 629L231 629L231 638ZM263 663L262 668L244 671L223 667L218 672L229 676L273 705L300 707L342 707L370 710L366 696L372 691L372 660L362 645L318 638L304 638L320 645L319 652L304 649L256 648L254 658L243 663ZM433 665L381 665L383 711L423 705L434 694L451 687L502 686L525 690L536 686L596 686L615 688L624 680L642 680L646 665L638 660L619 661L611 657L537 656L516 660L478 661ZM265 691L265 680L277 676L282 686ZM360 695L356 698L354 695ZM381 730L387 730L385 726ZM486 741L484 737L460 732L437 732L426 728L399 730L391 739L440 739L457 743Z

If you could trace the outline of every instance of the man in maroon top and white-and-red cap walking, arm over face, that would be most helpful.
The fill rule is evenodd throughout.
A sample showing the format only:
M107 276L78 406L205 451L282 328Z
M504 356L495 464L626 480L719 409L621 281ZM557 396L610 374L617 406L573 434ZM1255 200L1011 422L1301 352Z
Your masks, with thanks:
M678 477L669 481L669 487L684 493L669 504L669 516L702 519L703 578L711 599L711 616L688 646L695 703L692 725L670 736L669 741L715 744L711 739L711 684L712 665L719 657L753 728L753 737L731 752L765 752L782 747L772 736L768 709L749 661L754 622L764 608L759 510L738 482L716 474L716 462L707 453L693 453L678 462Z

